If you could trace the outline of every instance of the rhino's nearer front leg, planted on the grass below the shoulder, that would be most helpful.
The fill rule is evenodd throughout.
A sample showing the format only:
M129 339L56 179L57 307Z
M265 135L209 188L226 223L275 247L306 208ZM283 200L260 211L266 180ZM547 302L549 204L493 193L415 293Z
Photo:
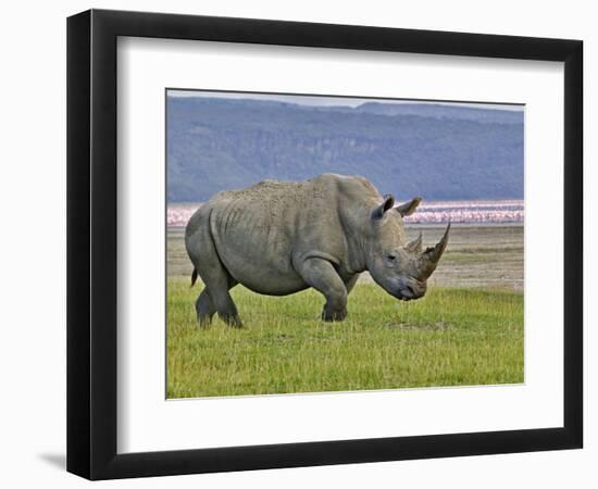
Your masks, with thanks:
M326 298L322 319L342 321L347 317L347 287L331 262L308 259L298 272L308 285Z

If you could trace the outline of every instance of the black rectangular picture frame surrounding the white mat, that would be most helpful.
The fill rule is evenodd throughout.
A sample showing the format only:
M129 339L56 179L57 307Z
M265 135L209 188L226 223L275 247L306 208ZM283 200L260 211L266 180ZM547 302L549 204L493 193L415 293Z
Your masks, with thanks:
M119 36L564 62L563 426L117 454ZM112 479L582 448L582 98L580 40L102 10L68 17L67 471Z

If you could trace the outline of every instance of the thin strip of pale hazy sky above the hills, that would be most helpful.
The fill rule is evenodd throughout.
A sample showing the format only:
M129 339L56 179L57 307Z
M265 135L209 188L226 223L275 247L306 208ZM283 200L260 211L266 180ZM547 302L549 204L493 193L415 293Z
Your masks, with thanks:
M297 103L300 105L345 105L357 106L364 102L379 103L431 103L443 105L469 106L474 109L496 109L502 111L522 112L524 105L514 105L507 103L473 103L473 102L445 102L436 100L397 100L397 99L361 99L357 97L310 97L310 96L294 96L294 95L267 95L267 93L249 93L249 92L226 92L226 91L201 91L201 90L169 90L169 97L204 97L217 99L253 99L253 100L271 100L277 102Z

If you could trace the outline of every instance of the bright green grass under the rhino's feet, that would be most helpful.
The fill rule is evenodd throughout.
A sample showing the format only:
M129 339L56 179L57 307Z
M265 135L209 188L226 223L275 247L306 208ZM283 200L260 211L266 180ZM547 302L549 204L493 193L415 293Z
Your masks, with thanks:
M245 323L195 318L200 287L170 279L167 397L267 394L523 381L523 294L431 288L398 302L358 284L349 316L323 323L313 290L285 298L236 287Z

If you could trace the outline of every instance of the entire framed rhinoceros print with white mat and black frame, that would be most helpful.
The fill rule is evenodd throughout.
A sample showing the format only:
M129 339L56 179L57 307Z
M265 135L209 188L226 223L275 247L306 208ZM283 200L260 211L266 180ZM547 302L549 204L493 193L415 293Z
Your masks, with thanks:
M67 469L582 447L582 42L67 23Z

